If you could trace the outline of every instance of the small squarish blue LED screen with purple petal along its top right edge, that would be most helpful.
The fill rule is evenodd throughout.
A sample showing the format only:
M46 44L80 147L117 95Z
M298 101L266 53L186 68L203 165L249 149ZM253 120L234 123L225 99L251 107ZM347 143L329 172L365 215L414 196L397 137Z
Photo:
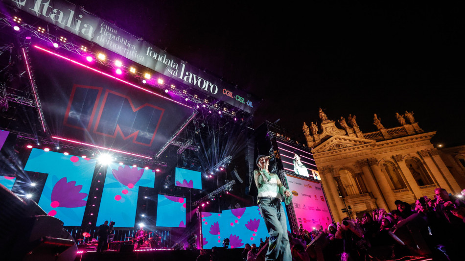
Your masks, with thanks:
M186 227L186 198L158 195L157 227Z

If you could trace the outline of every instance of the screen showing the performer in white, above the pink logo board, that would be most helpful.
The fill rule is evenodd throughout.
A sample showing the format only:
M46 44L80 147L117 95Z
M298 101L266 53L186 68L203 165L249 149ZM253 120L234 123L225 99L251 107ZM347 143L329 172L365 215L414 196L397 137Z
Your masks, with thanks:
M312 153L305 151L302 148L292 146L286 142L279 140L276 142L278 143L279 156L281 157L284 170L294 172L297 175L304 177L321 180ZM296 155L294 154L294 151L297 151L297 153L300 154L300 163L295 160Z

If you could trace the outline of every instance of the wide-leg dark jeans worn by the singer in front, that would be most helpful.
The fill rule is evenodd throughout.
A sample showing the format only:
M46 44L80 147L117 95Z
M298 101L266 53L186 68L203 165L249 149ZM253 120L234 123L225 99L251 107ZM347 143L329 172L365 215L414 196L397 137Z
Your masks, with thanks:
M260 213L265 220L270 238L266 261L292 261L287 220L281 201L277 198L260 198Z

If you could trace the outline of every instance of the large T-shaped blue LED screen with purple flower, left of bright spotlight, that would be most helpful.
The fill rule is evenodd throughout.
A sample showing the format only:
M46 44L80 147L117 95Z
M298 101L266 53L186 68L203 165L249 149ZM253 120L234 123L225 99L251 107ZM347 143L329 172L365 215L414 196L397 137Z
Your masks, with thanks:
M95 160L33 148L24 170L47 173L39 206L65 226L81 226Z

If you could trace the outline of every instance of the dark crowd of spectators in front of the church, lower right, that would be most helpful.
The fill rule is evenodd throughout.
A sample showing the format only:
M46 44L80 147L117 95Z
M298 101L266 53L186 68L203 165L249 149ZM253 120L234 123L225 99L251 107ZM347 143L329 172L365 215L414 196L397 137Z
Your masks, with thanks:
M307 231L302 225L289 234L293 261L377 261L405 256L426 256L434 261L465 260L461 254L465 235L465 190L450 195L437 188L434 198L423 196L412 205L395 201L396 209L344 218L328 228ZM264 261L267 240L246 244L243 261ZM215 260L208 251L200 260Z

